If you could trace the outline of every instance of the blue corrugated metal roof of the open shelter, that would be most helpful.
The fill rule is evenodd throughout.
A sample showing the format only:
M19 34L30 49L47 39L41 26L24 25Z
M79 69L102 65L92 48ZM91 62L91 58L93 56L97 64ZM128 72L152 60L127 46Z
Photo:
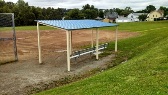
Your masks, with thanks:
M53 26L65 30L118 26L118 24L106 23L96 20L36 20L36 21L43 25Z

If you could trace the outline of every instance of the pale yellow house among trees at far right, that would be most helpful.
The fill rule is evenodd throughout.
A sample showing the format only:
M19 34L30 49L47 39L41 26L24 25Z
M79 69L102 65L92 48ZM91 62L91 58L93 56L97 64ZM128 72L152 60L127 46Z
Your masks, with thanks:
M148 15L147 15L147 19L146 21L155 21L157 20L158 18L162 18L164 16L164 12L161 11L161 10L155 10L155 11L152 11L150 12Z

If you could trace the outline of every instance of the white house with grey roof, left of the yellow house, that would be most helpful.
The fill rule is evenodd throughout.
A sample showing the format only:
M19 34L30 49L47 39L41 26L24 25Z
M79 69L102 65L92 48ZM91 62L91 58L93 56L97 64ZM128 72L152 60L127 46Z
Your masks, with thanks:
M136 22L136 21L140 21L139 20L140 15L147 15L147 13L130 13L127 16L127 18L129 18L131 20L131 22Z

